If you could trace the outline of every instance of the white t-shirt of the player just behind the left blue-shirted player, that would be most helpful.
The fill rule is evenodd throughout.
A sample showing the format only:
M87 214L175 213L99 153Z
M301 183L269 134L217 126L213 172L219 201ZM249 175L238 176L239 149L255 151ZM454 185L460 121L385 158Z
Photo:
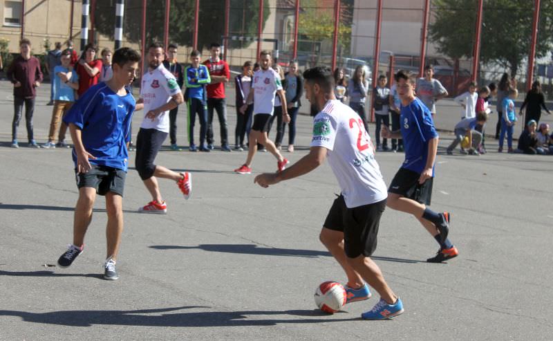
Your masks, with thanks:
M142 75L142 87L140 88L140 98L144 100L144 120L142 120L140 127L169 133L169 111L160 113L153 120L147 118L146 114L148 111L169 102L171 97L178 93L180 93L180 87L175 76L167 71L163 64L160 64L153 71L144 73Z

